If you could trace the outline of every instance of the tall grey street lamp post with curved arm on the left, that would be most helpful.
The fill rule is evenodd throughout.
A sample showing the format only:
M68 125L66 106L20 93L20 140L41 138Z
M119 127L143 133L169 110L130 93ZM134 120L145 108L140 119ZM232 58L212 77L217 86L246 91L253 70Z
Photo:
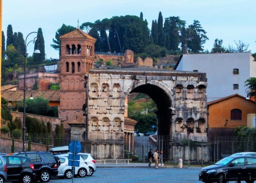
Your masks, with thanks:
M37 38L37 36L29 41L27 43L27 39L29 37L29 35L33 34L33 33L36 33L37 36L39 35L39 37ZM34 54L40 54L40 50L38 49L38 43L40 42L40 38L41 38L41 35L37 32L32 32L32 33L29 33L29 35L26 37L26 40L25 40L25 49L24 49L24 97L23 97L23 104L24 104L24 112L23 112L23 151L25 151L25 139L26 139L26 59L27 59L27 46L29 45L29 43L33 42L35 43L36 45L36 49L34 50Z

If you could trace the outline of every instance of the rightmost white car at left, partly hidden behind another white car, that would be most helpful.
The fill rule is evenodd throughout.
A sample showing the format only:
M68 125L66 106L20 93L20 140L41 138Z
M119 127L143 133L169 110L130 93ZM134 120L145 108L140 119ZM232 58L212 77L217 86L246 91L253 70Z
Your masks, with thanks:
M69 154L71 153L64 153L64 154L56 154L58 156L66 156L68 157ZM86 163L89 166L89 171L87 172L87 176L92 176L94 172L96 172L96 162L93 159L93 157L91 156L90 153L82 153L79 152L77 153L80 155L80 162L83 161L84 163Z

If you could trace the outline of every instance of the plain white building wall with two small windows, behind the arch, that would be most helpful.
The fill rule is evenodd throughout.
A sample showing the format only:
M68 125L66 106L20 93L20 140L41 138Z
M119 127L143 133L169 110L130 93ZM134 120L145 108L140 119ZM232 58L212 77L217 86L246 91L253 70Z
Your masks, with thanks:
M233 74L239 69L239 74ZM176 70L205 72L207 102L238 93L246 97L245 81L256 77L256 62L249 52L183 55ZM238 84L239 89L233 89Z

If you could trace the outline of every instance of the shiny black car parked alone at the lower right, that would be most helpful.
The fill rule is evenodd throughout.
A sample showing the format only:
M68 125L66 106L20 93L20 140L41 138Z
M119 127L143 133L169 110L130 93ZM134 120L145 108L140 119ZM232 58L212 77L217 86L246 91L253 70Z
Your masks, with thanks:
M256 158L253 156L228 156L214 165L202 168L199 173L199 180L220 183L236 181L239 173L241 180L245 180L247 183L256 180Z

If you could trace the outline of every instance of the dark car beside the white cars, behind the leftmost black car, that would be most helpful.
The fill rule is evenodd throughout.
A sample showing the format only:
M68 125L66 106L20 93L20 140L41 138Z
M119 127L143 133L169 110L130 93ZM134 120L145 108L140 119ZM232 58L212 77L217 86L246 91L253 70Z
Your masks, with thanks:
M40 180L40 182L48 182L51 176L58 175L59 159L55 159L50 152L28 151L17 152L13 155L21 155L30 158L35 167L36 180Z

